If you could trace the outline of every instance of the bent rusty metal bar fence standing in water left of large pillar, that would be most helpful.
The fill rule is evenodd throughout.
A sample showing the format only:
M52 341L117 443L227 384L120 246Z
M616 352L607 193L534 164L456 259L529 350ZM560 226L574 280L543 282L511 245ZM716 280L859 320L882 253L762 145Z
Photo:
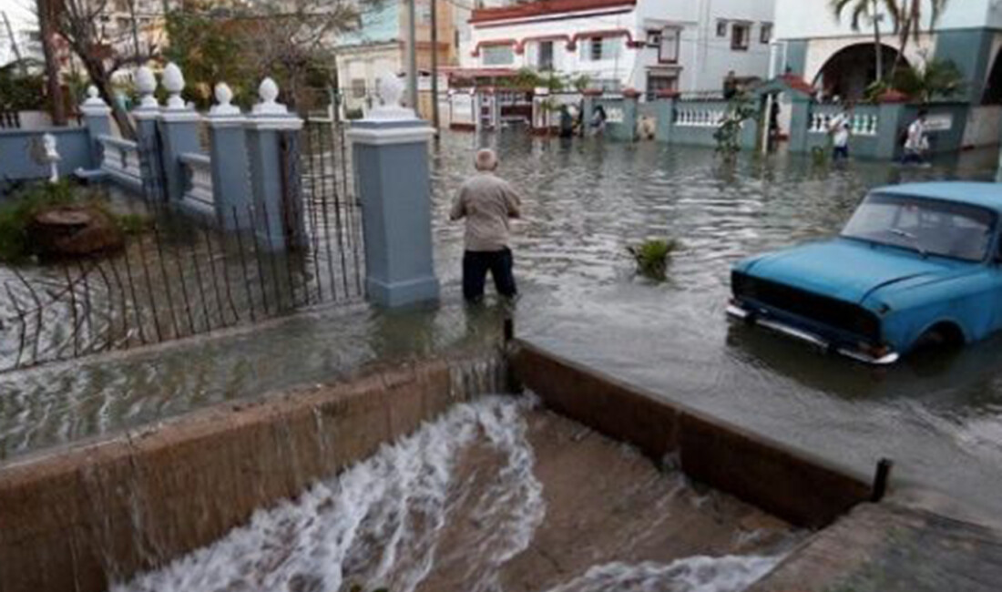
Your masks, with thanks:
M254 324L306 307L361 301L364 257L344 133L309 119L283 142L281 211L256 203L229 212L240 232L178 216L156 199L152 226L114 255L0 265L0 372L126 350ZM147 197L159 187L144 187ZM273 216L298 239L269 249Z

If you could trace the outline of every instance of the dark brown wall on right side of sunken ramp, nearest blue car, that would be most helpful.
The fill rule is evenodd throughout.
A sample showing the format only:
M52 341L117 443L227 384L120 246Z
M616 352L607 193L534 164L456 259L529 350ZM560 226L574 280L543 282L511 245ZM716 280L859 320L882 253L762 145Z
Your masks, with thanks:
M655 462L676 460L689 477L796 525L826 526L870 498L867 481L846 469L528 344L518 343L511 364L555 412Z

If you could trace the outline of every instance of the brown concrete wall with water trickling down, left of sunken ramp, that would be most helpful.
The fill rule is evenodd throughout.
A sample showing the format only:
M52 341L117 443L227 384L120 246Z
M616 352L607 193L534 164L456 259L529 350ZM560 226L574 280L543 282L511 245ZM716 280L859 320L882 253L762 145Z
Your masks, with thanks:
M97 592L204 546L454 402L504 391L504 365L477 360L372 371L0 465L0 590Z

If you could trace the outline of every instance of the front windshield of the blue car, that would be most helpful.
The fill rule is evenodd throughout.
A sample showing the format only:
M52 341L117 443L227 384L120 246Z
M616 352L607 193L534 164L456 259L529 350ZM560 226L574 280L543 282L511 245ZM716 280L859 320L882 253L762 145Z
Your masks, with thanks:
M842 235L970 261L985 257L995 214L983 207L874 193L863 200Z

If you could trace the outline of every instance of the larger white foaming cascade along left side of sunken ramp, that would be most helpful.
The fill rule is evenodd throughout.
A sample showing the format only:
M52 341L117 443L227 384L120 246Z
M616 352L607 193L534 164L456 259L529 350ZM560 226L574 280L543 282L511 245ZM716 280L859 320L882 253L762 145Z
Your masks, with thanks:
M469 575L478 579L470 589L489 589L545 513L525 437L523 412L532 405L486 397L456 406L297 501L259 511L213 545L112 590L320 592L358 583L410 592L430 573L449 512L464 501L487 526L470 549ZM478 499L456 499L459 453L478 439L500 455L501 469Z

